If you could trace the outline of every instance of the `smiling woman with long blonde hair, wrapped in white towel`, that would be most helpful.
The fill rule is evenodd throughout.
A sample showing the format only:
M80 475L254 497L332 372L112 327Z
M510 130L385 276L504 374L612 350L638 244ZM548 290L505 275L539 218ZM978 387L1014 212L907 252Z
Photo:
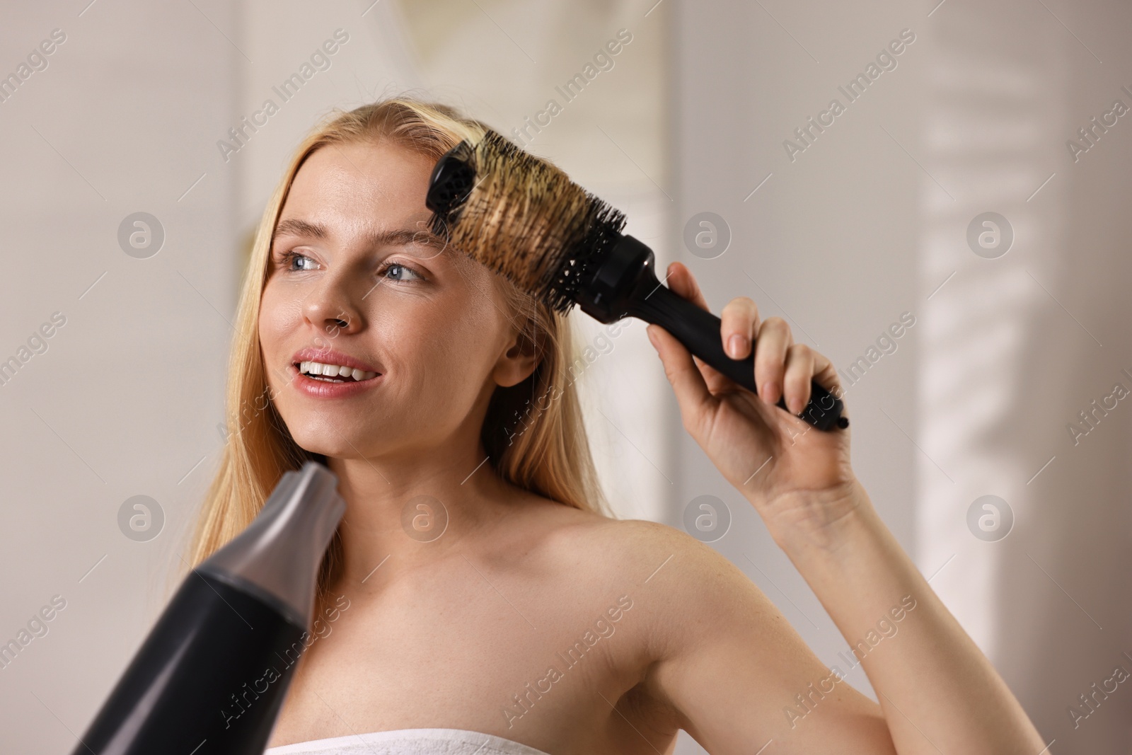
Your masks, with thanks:
M432 165L482 128L409 100L337 114L264 214L192 563L305 460L334 471L348 505L268 753L670 753L685 729L723 755L1037 755L1018 701L877 517L848 432L774 406L800 411L812 378L841 389L749 299L724 307L721 337L736 358L757 337L760 396L663 329L649 337L685 429L857 647L881 704L713 549L602 513L568 320L427 231ZM685 266L667 281L706 309Z

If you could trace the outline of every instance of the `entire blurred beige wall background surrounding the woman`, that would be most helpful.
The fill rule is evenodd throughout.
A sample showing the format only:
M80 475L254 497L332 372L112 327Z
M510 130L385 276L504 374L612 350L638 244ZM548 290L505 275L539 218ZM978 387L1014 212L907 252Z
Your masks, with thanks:
M1132 672L1127 3L2 14L5 752L70 752L163 607L224 443L250 234L291 151L332 109L402 93L518 130L713 310L748 295L829 355L858 475L1048 752L1132 752L1127 685L1081 702ZM844 668L849 643L683 431L644 326L609 343L583 387L618 513L710 541ZM875 700L859 667L848 679ZM681 733L676 752L703 750Z

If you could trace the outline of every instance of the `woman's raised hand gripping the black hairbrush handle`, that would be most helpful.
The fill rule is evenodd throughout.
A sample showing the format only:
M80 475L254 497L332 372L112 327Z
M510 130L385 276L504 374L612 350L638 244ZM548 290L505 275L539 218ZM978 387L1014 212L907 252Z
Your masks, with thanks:
M669 265L667 281L675 293L707 309L685 265ZM755 344L757 396L693 358L659 325L646 328L676 393L684 428L755 506L775 540L784 529L815 531L842 518L858 501L852 495L858 483L849 465L848 428L817 430L775 406L784 395L787 406L800 413L809 401L812 379L840 396L833 364L794 343L781 318L761 323L755 302L746 297L728 302L721 319L730 357L743 359ZM736 335L739 343L732 345Z

